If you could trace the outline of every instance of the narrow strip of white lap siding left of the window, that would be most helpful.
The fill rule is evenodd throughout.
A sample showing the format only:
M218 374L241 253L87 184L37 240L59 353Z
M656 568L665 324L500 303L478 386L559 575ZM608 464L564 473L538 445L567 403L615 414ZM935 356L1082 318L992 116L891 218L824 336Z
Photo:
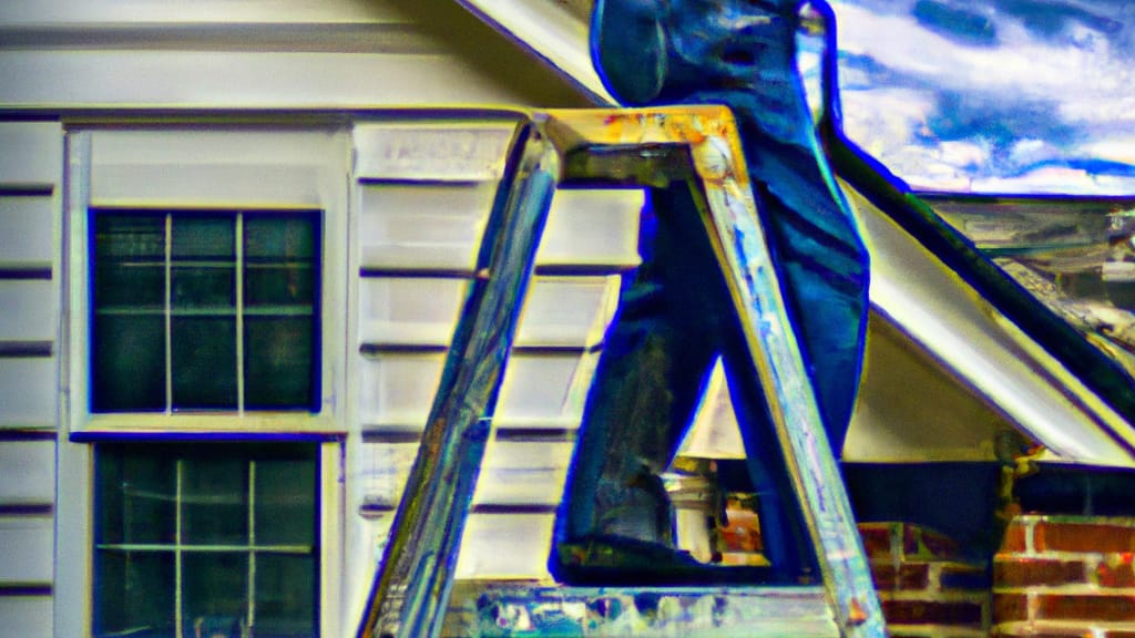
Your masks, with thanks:
M62 131L0 123L0 618L50 636Z

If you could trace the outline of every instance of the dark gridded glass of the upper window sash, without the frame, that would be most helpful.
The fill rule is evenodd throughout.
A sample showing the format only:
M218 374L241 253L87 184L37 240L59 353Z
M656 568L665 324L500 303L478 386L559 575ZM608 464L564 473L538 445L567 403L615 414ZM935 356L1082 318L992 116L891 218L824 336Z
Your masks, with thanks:
M318 212L91 217L93 412L318 411Z

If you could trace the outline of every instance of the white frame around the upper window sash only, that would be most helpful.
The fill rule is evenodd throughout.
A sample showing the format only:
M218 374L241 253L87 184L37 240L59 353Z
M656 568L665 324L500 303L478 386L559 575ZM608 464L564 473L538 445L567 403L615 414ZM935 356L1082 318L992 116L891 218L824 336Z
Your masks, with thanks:
M292 137L296 141L293 142ZM327 137L326 133L284 128L227 127L207 131L121 127L69 133L65 216L69 260L66 302L70 324L67 335L67 386L73 408L68 425L73 437L78 433L96 436L126 431L345 433L344 406L337 398L339 389L345 386L342 353L346 338L346 312L337 309L346 308L348 198L345 176L350 141L345 131L330 136L331 142ZM305 152L309 141L314 148ZM171 146L168 153L162 152L163 142L169 142ZM257 144L268 148L259 151L254 148ZM101 161L92 157L98 146L108 148L110 159L95 163ZM336 157L336 146L342 149L339 157ZM226 157L226 151L234 157ZM129 153L136 154L137 159ZM133 163L119 163L124 161ZM141 174L136 184L131 183L133 169ZM202 183L203 179L217 179L218 183ZM89 237L92 208L258 213L321 210L319 236L322 245L317 246L321 263L318 303L321 312L319 411L91 413L87 410L90 343L86 328L91 312L87 283L92 277L90 251L93 246Z

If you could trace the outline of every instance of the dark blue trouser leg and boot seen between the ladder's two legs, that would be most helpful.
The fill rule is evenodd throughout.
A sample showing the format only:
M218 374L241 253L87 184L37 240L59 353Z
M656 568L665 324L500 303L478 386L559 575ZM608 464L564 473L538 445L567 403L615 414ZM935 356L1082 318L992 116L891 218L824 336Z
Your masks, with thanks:
M672 460L724 349L738 420L776 579L794 581L799 517L759 383L717 259L688 191L655 193L655 260L622 300L585 410L556 521L549 568L568 582L767 581L768 570L713 568L682 556L671 538L670 500L658 475ZM598 560L590 548L607 549ZM571 552L577 552L572 554ZM590 563L590 564L588 564ZM596 563L602 563L596 569ZM625 568L619 571L620 568Z

